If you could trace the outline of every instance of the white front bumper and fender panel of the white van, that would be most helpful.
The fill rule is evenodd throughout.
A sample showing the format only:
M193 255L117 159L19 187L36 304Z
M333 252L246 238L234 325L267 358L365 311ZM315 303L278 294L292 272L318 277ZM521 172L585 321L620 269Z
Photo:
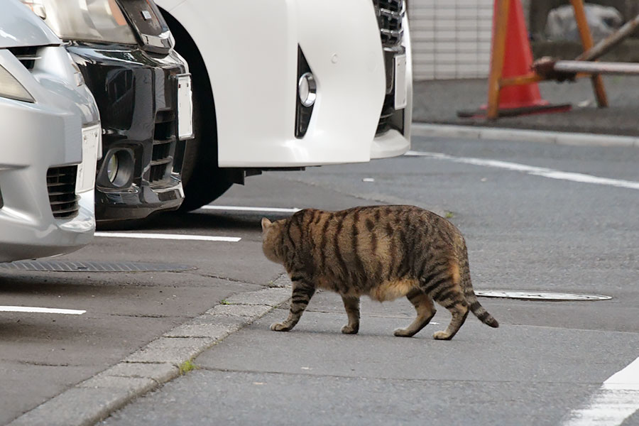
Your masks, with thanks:
M409 52L405 124L376 136L387 79L373 0L158 4L187 28L206 64L215 101L220 167L358 163L408 151ZM410 50L408 21L404 22L403 45ZM300 50L317 82L317 99L305 135L297 138Z

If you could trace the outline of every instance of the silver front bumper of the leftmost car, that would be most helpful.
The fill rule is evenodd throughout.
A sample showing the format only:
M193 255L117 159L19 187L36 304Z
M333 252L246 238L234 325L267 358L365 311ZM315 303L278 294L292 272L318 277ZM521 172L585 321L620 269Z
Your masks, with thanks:
M35 98L33 103L0 98L0 262L75 251L92 241L95 229L95 148L83 155L82 139L93 132L93 146L99 143L97 109L86 87L75 88L43 71L65 60L71 67L64 48L40 48L38 56L30 71L0 50L0 64ZM59 211L54 216L60 205L52 202L55 188L48 178L60 170L89 173L86 180L70 178L77 213L66 217Z

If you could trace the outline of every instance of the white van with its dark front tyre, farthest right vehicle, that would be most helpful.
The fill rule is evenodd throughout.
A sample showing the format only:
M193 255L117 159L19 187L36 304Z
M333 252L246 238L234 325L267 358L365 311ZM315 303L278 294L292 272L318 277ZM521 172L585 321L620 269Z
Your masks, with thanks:
M185 209L261 170L408 151L404 0L155 0L193 80ZM187 150L188 151L188 150Z

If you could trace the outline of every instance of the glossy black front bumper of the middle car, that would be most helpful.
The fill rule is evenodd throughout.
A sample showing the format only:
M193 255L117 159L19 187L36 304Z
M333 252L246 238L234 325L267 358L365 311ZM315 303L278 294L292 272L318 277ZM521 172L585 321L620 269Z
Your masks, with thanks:
M67 50L93 92L102 121L102 160L97 163L98 222L143 219L178 209L184 194L185 142L177 135L177 75L182 60L149 54L131 45L71 43ZM109 153L126 150L133 173L116 187L107 178Z

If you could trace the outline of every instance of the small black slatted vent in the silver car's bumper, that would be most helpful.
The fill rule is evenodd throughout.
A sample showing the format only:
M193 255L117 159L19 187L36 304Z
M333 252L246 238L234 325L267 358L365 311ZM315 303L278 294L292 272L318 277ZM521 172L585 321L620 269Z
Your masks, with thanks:
M51 212L56 219L70 219L77 216L80 207L75 194L77 165L52 167L47 170L47 190Z

